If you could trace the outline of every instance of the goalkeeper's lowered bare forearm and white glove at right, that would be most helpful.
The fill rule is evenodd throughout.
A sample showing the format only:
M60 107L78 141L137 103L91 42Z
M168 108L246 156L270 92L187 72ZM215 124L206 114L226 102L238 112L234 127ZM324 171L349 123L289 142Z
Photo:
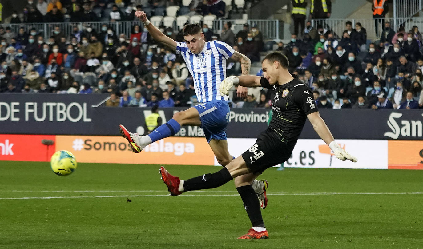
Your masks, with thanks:
M329 145L329 148L332 150L336 158L343 161L350 160L352 162L357 162L357 158L350 155L348 152L342 149L338 143L335 142L332 133L330 132L324 120L321 118L318 111L308 114L307 117L308 120L310 120L311 125L313 125L317 135L319 135L319 137L325 143L327 143L327 145Z

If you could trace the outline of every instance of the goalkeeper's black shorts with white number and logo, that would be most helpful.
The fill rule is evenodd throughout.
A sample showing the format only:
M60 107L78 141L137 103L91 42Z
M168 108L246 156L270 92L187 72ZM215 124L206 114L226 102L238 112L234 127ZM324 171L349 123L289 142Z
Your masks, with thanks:
M291 157L296 142L283 142L272 130L260 133L257 141L242 158L252 173L262 173L266 168L286 162Z

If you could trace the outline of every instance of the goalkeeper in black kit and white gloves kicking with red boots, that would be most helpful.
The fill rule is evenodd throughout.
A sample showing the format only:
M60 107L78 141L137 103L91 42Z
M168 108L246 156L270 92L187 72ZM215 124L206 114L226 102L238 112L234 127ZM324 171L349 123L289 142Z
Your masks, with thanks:
M184 181L170 175L164 167L161 167L160 173L168 186L170 195L176 196L187 191L219 187L237 176L255 179L267 168L286 162L291 156L307 118L320 138L329 145L335 157L343 161L357 162L357 158L334 141L332 133L320 117L310 87L288 72L288 59L283 54L279 52L268 54L262 62L262 69L263 77L244 75L226 78L220 85L220 94L228 95L233 84L268 88L271 91L273 116L267 130L259 135L250 149L216 173L208 173ZM252 224L248 233L239 238L269 238L253 187L244 185L237 187L237 190Z

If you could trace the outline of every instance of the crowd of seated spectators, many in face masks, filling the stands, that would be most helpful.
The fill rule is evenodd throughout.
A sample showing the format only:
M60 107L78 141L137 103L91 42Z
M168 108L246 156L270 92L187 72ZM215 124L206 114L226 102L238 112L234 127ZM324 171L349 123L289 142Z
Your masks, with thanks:
M140 2L156 8L179 4L177 0ZM204 5L201 10L192 8L203 14L208 14L204 10L211 11L209 7L213 6L208 4L213 1L193 2ZM82 3L85 14L81 16L90 16L93 3ZM103 7L109 4L95 3ZM81 3L72 0L62 5L52 0L47 4L40 0L35 4L29 0L27 9L33 12L39 4L46 7L48 14L56 7L63 12L63 6L74 11ZM124 2L132 11L131 4ZM144 5L138 7L142 9ZM134 25L129 36L116 34L107 24L101 30L89 24L82 30L79 26L72 28L68 37L60 26L55 26L54 35L44 41L44 35L35 28L22 27L15 34L10 27L0 27L0 92L108 93L106 105L120 107L195 103L192 76L182 58L157 44L142 26ZM174 40L183 41L181 30L176 33L163 25L159 29ZM206 41L224 41L252 62L260 61L260 51L266 47L256 26L245 24L235 35L230 22L219 32L204 24L203 32ZM352 22L346 22L345 31L334 34L321 24L312 27L311 22L306 22L302 38L291 35L288 44L279 42L277 51L288 57L291 73L313 89L319 108L412 109L423 106L422 44L416 26L407 32L403 27L394 31L386 22L380 40L369 43L360 23L353 27ZM227 76L241 73L239 62L229 60L226 69ZM260 87L250 89L246 99L237 97L235 91L231 103L233 107L251 108L270 105L269 95Z

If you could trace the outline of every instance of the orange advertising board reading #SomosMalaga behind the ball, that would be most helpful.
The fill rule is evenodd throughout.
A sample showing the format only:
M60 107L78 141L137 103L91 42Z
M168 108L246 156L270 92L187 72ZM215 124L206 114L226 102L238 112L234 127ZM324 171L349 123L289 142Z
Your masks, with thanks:
M132 153L118 136L56 136L56 150L72 152L78 162L214 165L214 154L205 138L165 138L142 152Z

